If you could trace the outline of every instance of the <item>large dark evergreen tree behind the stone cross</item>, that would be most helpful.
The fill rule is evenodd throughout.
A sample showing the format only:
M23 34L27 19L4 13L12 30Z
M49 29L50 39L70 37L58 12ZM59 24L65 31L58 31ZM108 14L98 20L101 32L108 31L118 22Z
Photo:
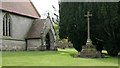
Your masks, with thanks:
M103 46L112 56L120 51L120 15L117 2L79 2L60 3L60 38L68 37L77 51L87 41L87 21L84 17L87 11L93 16L90 19L91 39L97 50ZM113 11L114 10L114 11Z

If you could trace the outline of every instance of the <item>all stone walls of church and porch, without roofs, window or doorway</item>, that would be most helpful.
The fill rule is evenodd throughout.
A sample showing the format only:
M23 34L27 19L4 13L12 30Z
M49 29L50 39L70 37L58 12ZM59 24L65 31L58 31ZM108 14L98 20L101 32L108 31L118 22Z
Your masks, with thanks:
M0 12L2 16L4 16L7 12ZM1 47L0 50L3 51L24 51L24 50L46 50L46 45L42 45L41 38L34 38L34 39L26 39L26 36L34 22L33 18L19 16L17 14L9 13L12 18L11 22L11 36L6 37L3 36L1 33L3 32L3 23L0 23L0 43ZM48 21L50 22L50 21ZM49 23L50 24L50 23ZM47 24L48 25L48 24ZM51 24L50 24L51 25ZM49 25L49 26L50 26ZM52 28L52 29L51 29ZM50 30L51 29L51 30ZM50 31L49 31L50 30ZM55 49L55 37L53 34L53 27L50 26L45 30L45 36L47 33L50 35L50 44L51 50ZM45 38L44 38L45 39ZM44 40L45 41L45 40Z

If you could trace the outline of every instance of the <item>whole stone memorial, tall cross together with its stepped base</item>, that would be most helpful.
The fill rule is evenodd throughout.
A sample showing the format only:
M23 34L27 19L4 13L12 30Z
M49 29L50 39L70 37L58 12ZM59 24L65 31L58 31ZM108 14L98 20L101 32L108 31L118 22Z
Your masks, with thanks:
M92 14L90 14L90 12L87 12L87 15L85 15L85 17L87 17L87 42L86 45L82 46L82 50L79 53L80 57L83 58L96 58L96 57L101 57L101 53L97 51L96 47L92 44L92 40L90 39L90 16L92 16Z

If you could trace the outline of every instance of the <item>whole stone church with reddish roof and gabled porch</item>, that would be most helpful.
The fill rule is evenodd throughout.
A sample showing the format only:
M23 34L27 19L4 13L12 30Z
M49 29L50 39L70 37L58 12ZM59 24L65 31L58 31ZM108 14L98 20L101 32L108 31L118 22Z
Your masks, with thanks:
M56 50L56 37L49 14L46 19L40 19L30 0L15 1L0 3L0 49Z

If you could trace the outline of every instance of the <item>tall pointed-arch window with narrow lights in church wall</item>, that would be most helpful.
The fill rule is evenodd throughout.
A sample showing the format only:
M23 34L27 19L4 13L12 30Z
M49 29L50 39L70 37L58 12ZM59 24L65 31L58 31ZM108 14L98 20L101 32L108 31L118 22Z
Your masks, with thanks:
M3 36L11 36L11 17L6 13L3 17Z

